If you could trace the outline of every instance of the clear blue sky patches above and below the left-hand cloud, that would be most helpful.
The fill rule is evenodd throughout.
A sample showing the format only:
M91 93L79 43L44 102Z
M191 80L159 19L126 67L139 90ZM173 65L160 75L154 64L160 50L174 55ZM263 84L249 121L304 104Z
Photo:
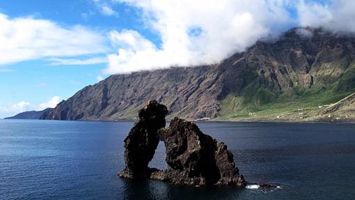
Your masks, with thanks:
M112 7L117 15L100 13L93 1L0 1L0 13L8 17L28 17L56 22L61 26L80 24L95 29L102 34L112 29L135 29L159 45L159 37L143 27L138 17L139 10L129 8L124 4L114 4ZM108 52L114 49L108 49ZM94 54L75 56L85 58L90 56L105 56ZM107 77L100 72L107 63L93 65L52 66L47 59L35 59L9 63L0 67L0 107L10 108L19 102L29 102L24 109L38 109L37 105L51 100L54 96L67 99L75 92L89 84L98 82L98 76ZM20 111L20 109L14 109ZM14 114L14 111L0 111L0 118Z

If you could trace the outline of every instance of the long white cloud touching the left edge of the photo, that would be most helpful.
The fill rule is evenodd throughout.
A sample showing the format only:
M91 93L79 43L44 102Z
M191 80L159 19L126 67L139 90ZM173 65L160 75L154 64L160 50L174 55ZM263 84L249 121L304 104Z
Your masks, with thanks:
M107 52L102 33L84 26L64 27L33 17L0 13L0 65L61 56Z

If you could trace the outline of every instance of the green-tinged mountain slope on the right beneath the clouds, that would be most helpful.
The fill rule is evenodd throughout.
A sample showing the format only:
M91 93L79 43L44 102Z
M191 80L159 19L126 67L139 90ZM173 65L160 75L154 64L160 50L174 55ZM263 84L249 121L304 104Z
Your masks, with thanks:
M291 30L276 43L249 49L258 76L221 101L221 119L315 121L318 112L355 91L354 38L320 30L302 38ZM326 120L326 119L323 119Z

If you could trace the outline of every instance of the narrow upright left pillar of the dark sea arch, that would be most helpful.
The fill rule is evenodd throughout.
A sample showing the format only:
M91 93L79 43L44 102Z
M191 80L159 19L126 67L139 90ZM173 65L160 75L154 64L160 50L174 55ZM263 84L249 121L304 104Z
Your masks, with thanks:
M119 176L139 178L150 174L148 163L152 160L159 143L157 130L165 127L166 106L155 100L139 111L139 121L125 139L125 169Z

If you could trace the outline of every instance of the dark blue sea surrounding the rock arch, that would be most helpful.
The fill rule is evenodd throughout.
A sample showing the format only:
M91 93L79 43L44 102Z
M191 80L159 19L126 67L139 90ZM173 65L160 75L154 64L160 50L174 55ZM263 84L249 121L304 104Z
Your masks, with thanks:
M132 123L0 121L0 199L354 199L355 125L198 123L228 144L249 182L281 190L125 180ZM164 145L151 166L163 169Z

